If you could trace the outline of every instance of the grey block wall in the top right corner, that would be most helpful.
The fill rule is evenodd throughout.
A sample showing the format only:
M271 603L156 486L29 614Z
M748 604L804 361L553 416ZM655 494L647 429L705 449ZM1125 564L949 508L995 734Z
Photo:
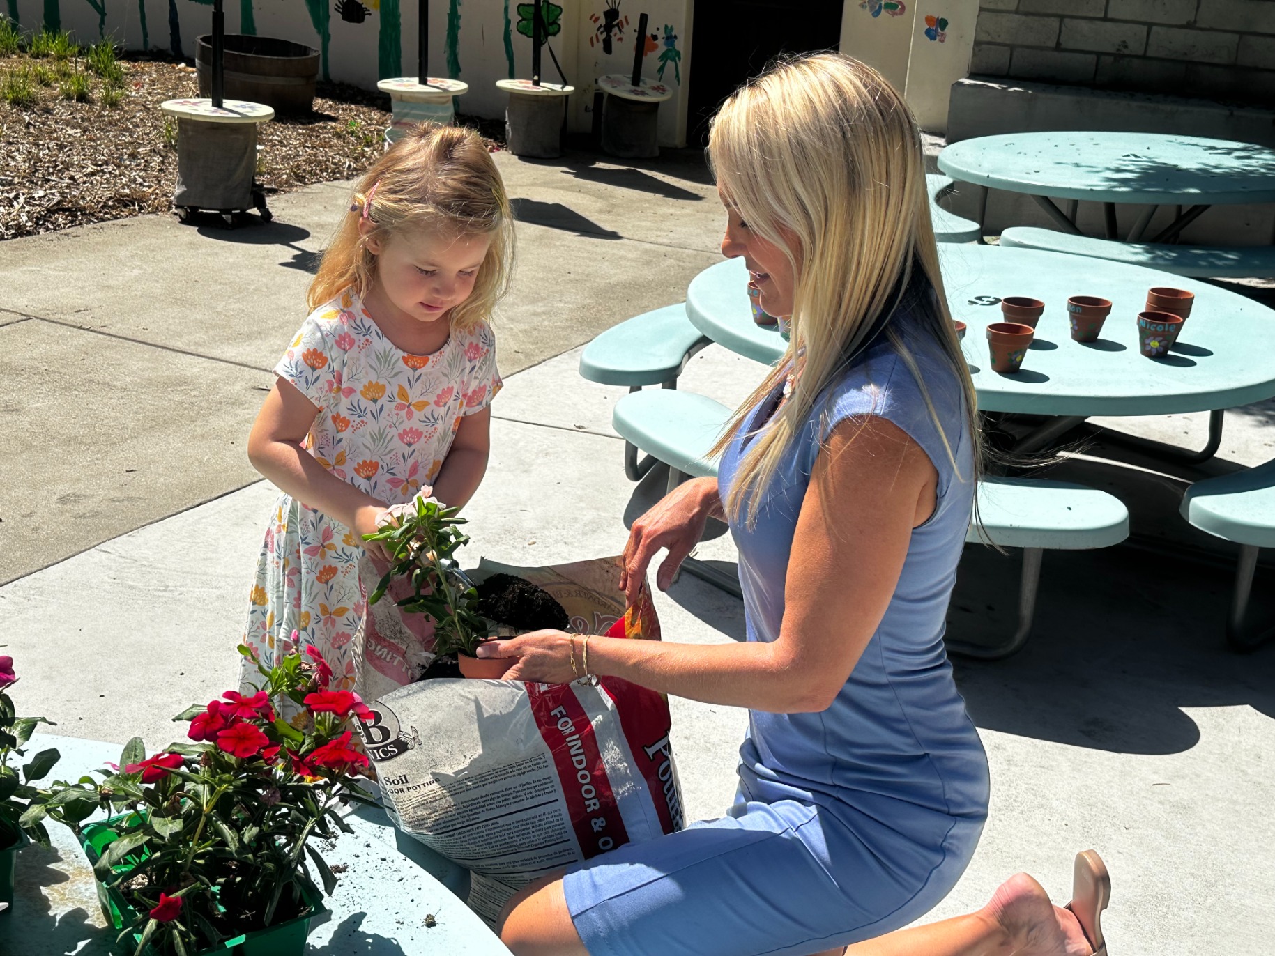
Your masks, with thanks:
M1275 102L1275 0L980 0L969 71Z

